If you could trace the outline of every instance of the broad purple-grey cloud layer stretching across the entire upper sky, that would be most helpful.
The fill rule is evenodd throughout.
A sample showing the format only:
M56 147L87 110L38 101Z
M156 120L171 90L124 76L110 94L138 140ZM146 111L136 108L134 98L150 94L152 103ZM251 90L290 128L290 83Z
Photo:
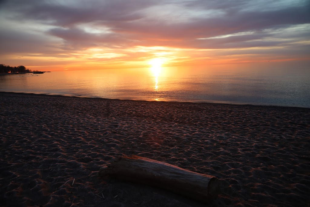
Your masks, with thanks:
M11 2L11 1L10 1ZM170 22L169 19L158 19L158 16L148 16L143 11L152 7L158 7L155 1L75 1L74 4L48 3L44 1L32 0L29 4L24 1L13 0L19 3L18 13L15 19L33 19L46 21L58 28L51 29L49 34L64 38L65 41L79 42L98 41L99 34L87 34L77 27L80 24L90 23L91 27L106 27L112 34L101 35L102 39L119 41L123 43L125 38L138 41L160 41L172 43L175 40L190 41L196 38L210 38L219 35L226 35L245 31L260 32L268 28L285 28L288 25L310 23L308 8L304 5L295 5L294 7L283 7L278 10L261 11L263 7L255 7L255 11L246 11L242 5L250 4L253 1L191 1L178 3L181 11L174 13L182 14L185 9L193 9L192 13L206 12L209 10L222 10L221 16L209 17L199 16L193 19L188 18L184 22ZM166 2L167 5L173 3ZM210 3L211 2L211 3ZM213 3L212 3L213 2ZM256 1L255 1L256 2ZM13 3L11 7L13 7ZM254 4L255 5L255 4ZM162 5L165 11L165 5ZM253 6L254 7L254 6ZM157 11L158 14L163 11ZM231 12L234 10L234 12ZM156 11L155 11L156 12ZM179 15L181 16L181 15ZM253 39L256 34L252 35ZM113 38L111 38L113 37ZM240 36L241 37L241 36ZM249 36L242 36L248 41ZM235 38L230 38L234 40ZM186 43L186 42L184 42ZM185 45L184 45L185 46Z

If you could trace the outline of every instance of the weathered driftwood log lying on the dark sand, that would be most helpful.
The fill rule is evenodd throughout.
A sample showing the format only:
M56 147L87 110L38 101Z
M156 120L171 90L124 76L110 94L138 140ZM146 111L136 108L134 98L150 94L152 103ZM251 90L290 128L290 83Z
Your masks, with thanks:
M115 158L98 175L160 187L204 203L219 194L219 179L214 176L135 155Z

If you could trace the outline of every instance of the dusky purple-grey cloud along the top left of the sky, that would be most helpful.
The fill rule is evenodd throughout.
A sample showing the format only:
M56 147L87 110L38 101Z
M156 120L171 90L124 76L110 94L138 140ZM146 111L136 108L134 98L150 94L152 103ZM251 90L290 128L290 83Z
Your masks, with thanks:
M47 21L49 24L69 27L79 23L94 21L137 20L141 18L141 16L135 11L144 9L154 1L77 0L64 2L12 0L7 2L7 7L15 12L12 17L16 20L26 18Z

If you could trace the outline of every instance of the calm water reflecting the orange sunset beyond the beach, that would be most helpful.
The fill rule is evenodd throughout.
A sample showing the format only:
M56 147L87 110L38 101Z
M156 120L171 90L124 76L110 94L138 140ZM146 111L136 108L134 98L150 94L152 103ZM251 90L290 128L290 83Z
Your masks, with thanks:
M2 75L0 91L310 108L310 70L293 63L67 70Z

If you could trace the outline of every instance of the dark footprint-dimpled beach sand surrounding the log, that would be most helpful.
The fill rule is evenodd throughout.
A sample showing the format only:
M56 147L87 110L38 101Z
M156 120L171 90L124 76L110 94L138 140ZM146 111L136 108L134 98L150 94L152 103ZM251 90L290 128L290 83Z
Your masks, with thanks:
M205 206L97 176L122 154L218 177L210 206L310 203L307 108L0 92L0 121L0 206Z

